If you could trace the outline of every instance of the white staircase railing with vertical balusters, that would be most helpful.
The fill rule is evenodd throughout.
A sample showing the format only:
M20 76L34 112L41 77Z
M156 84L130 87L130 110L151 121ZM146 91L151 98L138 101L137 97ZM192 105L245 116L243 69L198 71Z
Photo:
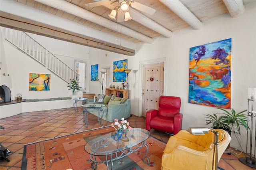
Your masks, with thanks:
M5 28L5 39L67 83L70 83L70 79L78 79L79 74L76 71L68 67L25 32Z

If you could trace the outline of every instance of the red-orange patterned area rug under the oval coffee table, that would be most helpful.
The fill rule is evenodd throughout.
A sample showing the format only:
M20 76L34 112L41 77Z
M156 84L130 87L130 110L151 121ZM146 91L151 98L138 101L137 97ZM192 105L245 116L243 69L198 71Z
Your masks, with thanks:
M24 146L22 170L88 170L92 161L84 151L86 139L114 131L110 126L76 134L60 136ZM124 158L114 161L114 170L157 170L161 169L161 157L166 144L153 137L148 138L149 151L146 155L149 164L143 162L146 147L143 146ZM111 164L109 165L111 167ZM104 163L98 164L98 170L106 170Z

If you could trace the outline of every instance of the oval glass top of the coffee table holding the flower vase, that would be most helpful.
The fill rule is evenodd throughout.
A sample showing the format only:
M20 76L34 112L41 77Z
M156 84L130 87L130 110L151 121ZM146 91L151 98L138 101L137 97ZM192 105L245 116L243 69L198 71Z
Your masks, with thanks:
M84 150L91 155L106 156L132 148L149 137L150 132L142 128L132 128L130 131L123 131L121 138L117 138L114 131L88 141L84 146Z

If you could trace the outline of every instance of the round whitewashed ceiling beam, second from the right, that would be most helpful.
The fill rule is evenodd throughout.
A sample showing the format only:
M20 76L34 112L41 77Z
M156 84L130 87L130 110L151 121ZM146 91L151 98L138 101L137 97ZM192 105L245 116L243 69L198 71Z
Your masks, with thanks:
M166 5L170 10L177 14L182 20L188 23L195 30L200 30L203 27L202 22L194 16L194 14L186 8L179 0L159 0Z

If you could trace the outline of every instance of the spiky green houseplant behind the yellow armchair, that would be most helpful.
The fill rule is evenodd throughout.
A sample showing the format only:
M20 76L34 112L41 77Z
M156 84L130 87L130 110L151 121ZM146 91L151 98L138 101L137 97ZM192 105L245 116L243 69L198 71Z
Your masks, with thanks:
M244 128L249 128L247 124L247 114L242 114L246 112L247 110L240 111L239 113L236 113L234 109L231 108L231 112L228 112L226 109L217 108L225 113L217 113L221 114L218 115L216 113L214 114L208 114L206 116L206 125L211 125L212 128L226 128L228 132L231 132L232 128L235 126L237 128L238 133L240 134L240 125L242 125Z

